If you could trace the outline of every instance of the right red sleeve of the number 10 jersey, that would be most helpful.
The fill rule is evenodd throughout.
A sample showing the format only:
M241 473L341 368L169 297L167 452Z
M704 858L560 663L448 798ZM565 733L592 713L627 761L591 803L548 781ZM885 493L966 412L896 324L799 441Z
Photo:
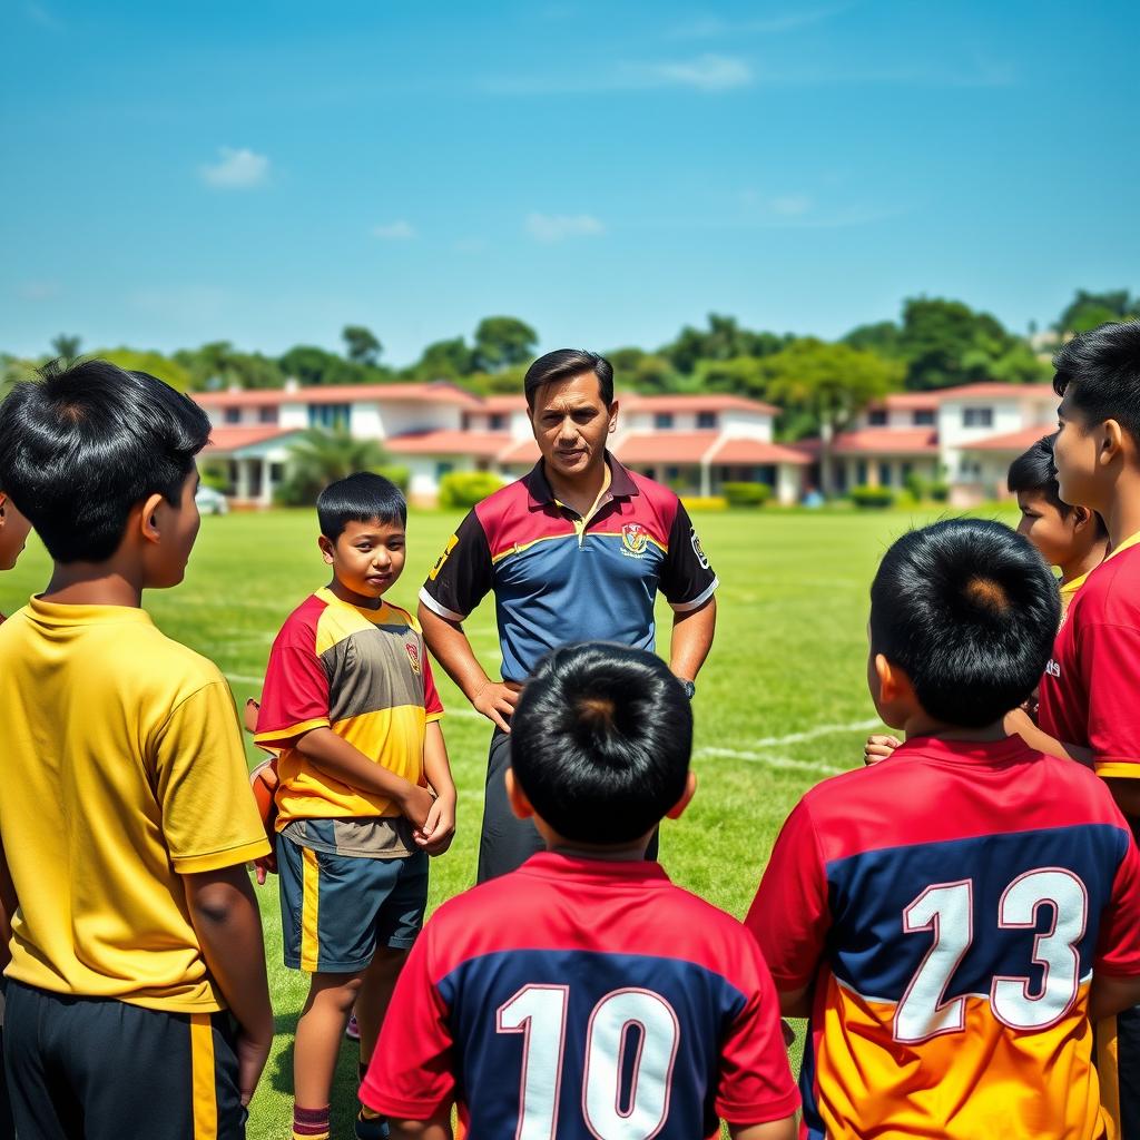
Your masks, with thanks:
M780 999L758 947L748 946L744 1008L720 1047L716 1110L730 1124L765 1124L799 1107L780 1031ZM744 980L743 978L739 980Z

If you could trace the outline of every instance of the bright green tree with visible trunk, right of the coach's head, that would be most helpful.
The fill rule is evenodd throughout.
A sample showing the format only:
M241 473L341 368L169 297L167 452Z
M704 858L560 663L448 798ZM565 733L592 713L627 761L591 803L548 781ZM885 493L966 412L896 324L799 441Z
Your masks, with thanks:
M820 481L824 494L833 488L831 447L872 400L886 396L903 378L898 360L849 344L828 344L814 337L795 341L760 361L771 399L805 418L820 433Z

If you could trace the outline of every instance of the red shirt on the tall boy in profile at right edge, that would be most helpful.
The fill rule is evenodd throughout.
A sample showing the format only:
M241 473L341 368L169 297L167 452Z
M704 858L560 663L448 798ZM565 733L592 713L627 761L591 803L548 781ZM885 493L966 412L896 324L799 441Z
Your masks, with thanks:
M1041 679L1041 727L1092 749L1097 774L1140 779L1140 534L1091 571Z

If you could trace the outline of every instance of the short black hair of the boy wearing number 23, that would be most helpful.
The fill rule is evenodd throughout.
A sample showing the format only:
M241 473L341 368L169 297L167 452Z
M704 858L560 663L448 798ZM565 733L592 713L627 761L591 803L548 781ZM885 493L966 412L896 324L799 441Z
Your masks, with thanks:
M983 519L903 535L871 585L871 650L902 668L923 710L979 728L1041 679L1060 621L1052 571L1028 539Z

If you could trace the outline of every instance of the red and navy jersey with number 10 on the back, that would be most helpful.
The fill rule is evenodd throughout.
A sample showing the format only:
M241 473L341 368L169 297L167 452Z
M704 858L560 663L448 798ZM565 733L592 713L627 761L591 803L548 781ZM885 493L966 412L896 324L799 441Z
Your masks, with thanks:
M697 1140L799 1105L743 927L657 863L553 853L434 914L360 1098L522 1140Z

